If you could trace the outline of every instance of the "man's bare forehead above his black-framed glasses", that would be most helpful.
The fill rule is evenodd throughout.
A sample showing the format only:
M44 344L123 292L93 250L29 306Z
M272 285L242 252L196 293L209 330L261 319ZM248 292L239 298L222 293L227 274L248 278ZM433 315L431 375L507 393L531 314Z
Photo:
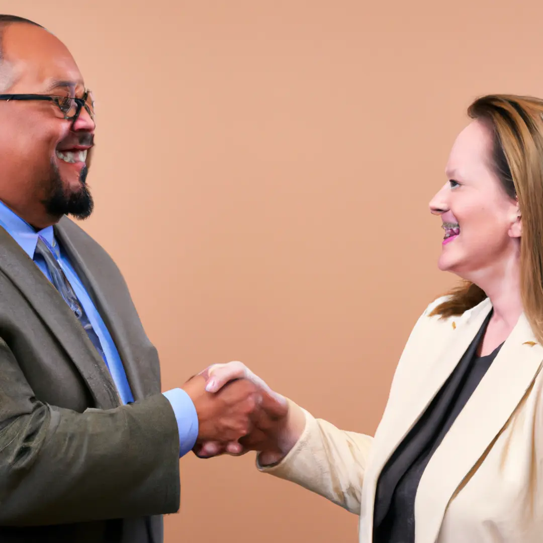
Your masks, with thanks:
M17 86L39 87L35 92L83 87L83 77L70 51L43 28L11 24L4 31L2 49Z

